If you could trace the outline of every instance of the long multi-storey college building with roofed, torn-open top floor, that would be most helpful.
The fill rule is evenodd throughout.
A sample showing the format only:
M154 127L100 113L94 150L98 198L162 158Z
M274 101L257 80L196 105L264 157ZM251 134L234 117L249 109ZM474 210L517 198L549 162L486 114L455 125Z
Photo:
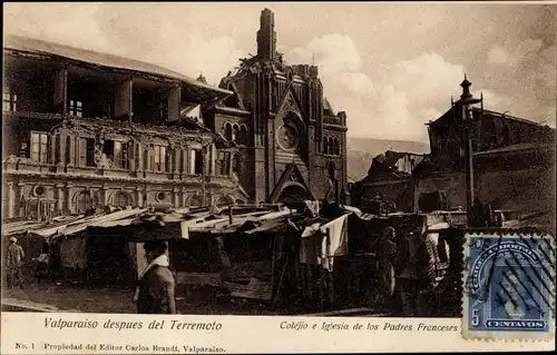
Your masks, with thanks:
M203 120L231 91L36 39L3 53L3 218L250 200L237 148Z

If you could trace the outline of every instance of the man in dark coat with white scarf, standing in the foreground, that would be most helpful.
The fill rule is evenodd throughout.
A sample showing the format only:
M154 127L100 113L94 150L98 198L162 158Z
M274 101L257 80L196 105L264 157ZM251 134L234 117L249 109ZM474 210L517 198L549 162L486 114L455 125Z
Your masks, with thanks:
M149 240L144 244L147 267L139 278L135 300L139 314L176 314L174 292L176 283L166 255L166 243Z

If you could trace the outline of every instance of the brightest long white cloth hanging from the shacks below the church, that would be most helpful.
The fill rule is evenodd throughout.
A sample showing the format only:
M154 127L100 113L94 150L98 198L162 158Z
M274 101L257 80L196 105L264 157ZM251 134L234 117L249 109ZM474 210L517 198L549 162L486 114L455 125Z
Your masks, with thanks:
M333 270L333 258L348 254L348 224L345 214L321 226L324 235L321 247L320 264L329 272Z

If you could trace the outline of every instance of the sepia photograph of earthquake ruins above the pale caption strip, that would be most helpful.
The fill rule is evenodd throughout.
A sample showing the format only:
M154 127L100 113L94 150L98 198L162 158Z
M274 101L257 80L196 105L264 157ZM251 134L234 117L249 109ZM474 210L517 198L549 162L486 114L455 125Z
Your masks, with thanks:
M555 2L3 10L2 313L555 332Z

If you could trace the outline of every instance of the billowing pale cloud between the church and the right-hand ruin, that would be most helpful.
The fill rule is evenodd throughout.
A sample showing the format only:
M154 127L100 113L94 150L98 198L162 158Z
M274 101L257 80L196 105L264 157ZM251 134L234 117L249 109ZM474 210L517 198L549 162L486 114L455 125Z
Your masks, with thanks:
M350 136L428 141L424 124L438 118L462 80L463 67L437 53L381 68L389 75L373 82L346 34L331 33L294 48L287 59L319 65L324 92L336 110L345 110ZM457 85L456 85L457 83Z

